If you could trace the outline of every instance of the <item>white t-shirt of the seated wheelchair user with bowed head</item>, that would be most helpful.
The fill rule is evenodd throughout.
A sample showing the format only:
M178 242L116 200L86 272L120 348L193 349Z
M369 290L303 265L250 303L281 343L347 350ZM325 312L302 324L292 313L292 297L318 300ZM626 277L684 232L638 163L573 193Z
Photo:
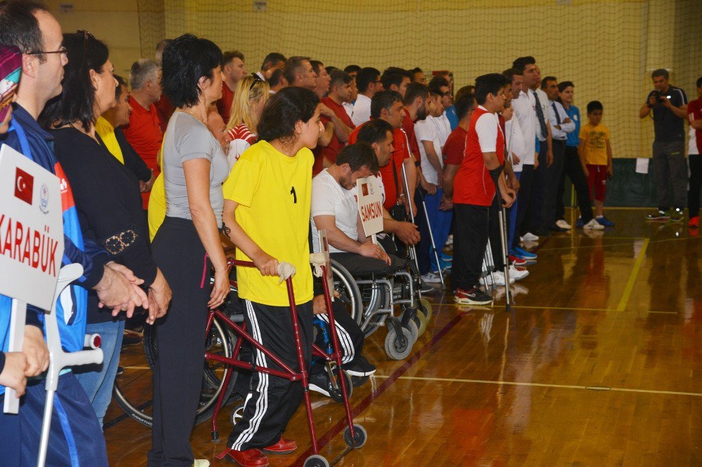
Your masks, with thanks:
M336 217L336 226L343 231L348 238L356 241L358 239L357 217L358 202L351 192L342 187L334 177L329 175L327 169L319 172L312 179L312 207L310 210L310 222L312 224L312 249L319 252L319 233L314 225L314 216L330 215ZM332 253L342 252L329 245Z

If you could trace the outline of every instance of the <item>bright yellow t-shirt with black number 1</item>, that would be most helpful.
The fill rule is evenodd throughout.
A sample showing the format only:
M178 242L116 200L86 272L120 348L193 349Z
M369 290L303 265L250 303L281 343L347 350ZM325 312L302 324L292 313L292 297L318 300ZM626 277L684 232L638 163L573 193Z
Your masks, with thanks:
M224 198L239 203L235 217L251 240L280 262L289 262L296 304L312 300L310 196L314 156L307 148L286 156L266 141L246 149L224 182ZM251 261L237 249L237 259ZM237 267L239 297L270 306L289 306L285 283L255 268Z

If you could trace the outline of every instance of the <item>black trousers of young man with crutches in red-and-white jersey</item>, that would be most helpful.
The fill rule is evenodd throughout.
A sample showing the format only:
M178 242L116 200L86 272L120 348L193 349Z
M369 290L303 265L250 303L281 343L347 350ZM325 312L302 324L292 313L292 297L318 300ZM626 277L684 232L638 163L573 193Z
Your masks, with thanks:
M453 205L456 232L453 234L451 287L470 290L479 285L482 260L489 236L488 206L456 203Z

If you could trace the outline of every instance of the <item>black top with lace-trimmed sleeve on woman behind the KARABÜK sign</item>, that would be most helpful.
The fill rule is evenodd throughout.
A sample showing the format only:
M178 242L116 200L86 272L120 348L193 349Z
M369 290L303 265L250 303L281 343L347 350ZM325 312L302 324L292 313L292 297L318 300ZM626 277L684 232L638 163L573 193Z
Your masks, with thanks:
M151 256L149 230L142 208L139 181L102 144L75 128L51 130L55 154L73 191L81 230L98 241L115 262L153 283L157 266ZM88 292L88 323L112 320Z

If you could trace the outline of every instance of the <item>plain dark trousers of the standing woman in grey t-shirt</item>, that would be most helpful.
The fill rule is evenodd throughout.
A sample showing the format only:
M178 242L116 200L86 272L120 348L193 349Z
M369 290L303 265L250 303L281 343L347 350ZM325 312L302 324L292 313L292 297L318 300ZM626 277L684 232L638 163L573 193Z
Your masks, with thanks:
M190 433L202 383L211 264L204 262L205 249L187 219L166 217L152 251L173 298L166 316L156 323L159 358L153 375L149 466L192 466Z

